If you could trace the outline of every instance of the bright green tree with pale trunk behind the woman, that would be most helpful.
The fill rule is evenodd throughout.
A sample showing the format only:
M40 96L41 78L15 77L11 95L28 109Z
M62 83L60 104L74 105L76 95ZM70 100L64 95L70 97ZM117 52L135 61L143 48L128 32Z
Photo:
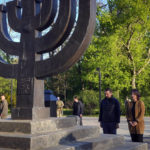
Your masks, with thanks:
M111 13L116 24L117 45L131 68L132 88L150 64L150 1L114 1ZM144 76L144 74L143 74Z

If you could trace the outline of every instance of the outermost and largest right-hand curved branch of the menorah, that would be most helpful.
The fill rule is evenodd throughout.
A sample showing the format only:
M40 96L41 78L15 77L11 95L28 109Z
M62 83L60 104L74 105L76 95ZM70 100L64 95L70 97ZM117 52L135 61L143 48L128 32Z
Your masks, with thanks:
M79 19L71 39L56 56L36 62L37 78L44 78L67 70L79 60L87 48L91 40L90 35L95 29L96 2L95 0L80 0L79 6Z

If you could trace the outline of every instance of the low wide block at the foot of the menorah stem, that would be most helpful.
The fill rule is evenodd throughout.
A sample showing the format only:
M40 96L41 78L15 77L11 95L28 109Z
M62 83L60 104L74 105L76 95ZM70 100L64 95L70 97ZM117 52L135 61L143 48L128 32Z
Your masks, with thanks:
M35 108L13 108L12 119L14 120L35 120L46 119L50 117L50 108L35 107Z

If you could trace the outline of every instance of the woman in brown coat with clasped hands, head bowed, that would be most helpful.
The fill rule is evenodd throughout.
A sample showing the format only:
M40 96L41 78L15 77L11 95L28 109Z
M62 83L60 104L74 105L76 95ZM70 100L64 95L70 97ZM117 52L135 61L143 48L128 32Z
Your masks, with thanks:
M126 101L126 117L132 142L143 142L145 105L138 90L132 90L132 101Z

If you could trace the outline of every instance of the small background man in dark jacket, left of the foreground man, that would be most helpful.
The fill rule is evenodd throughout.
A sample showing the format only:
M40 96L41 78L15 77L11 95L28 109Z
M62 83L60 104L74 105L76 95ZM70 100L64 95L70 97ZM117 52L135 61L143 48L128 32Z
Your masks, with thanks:
M83 125L82 116L83 116L83 104L79 101L78 96L74 96L74 103L73 103L73 115L79 116L80 118L80 125Z

